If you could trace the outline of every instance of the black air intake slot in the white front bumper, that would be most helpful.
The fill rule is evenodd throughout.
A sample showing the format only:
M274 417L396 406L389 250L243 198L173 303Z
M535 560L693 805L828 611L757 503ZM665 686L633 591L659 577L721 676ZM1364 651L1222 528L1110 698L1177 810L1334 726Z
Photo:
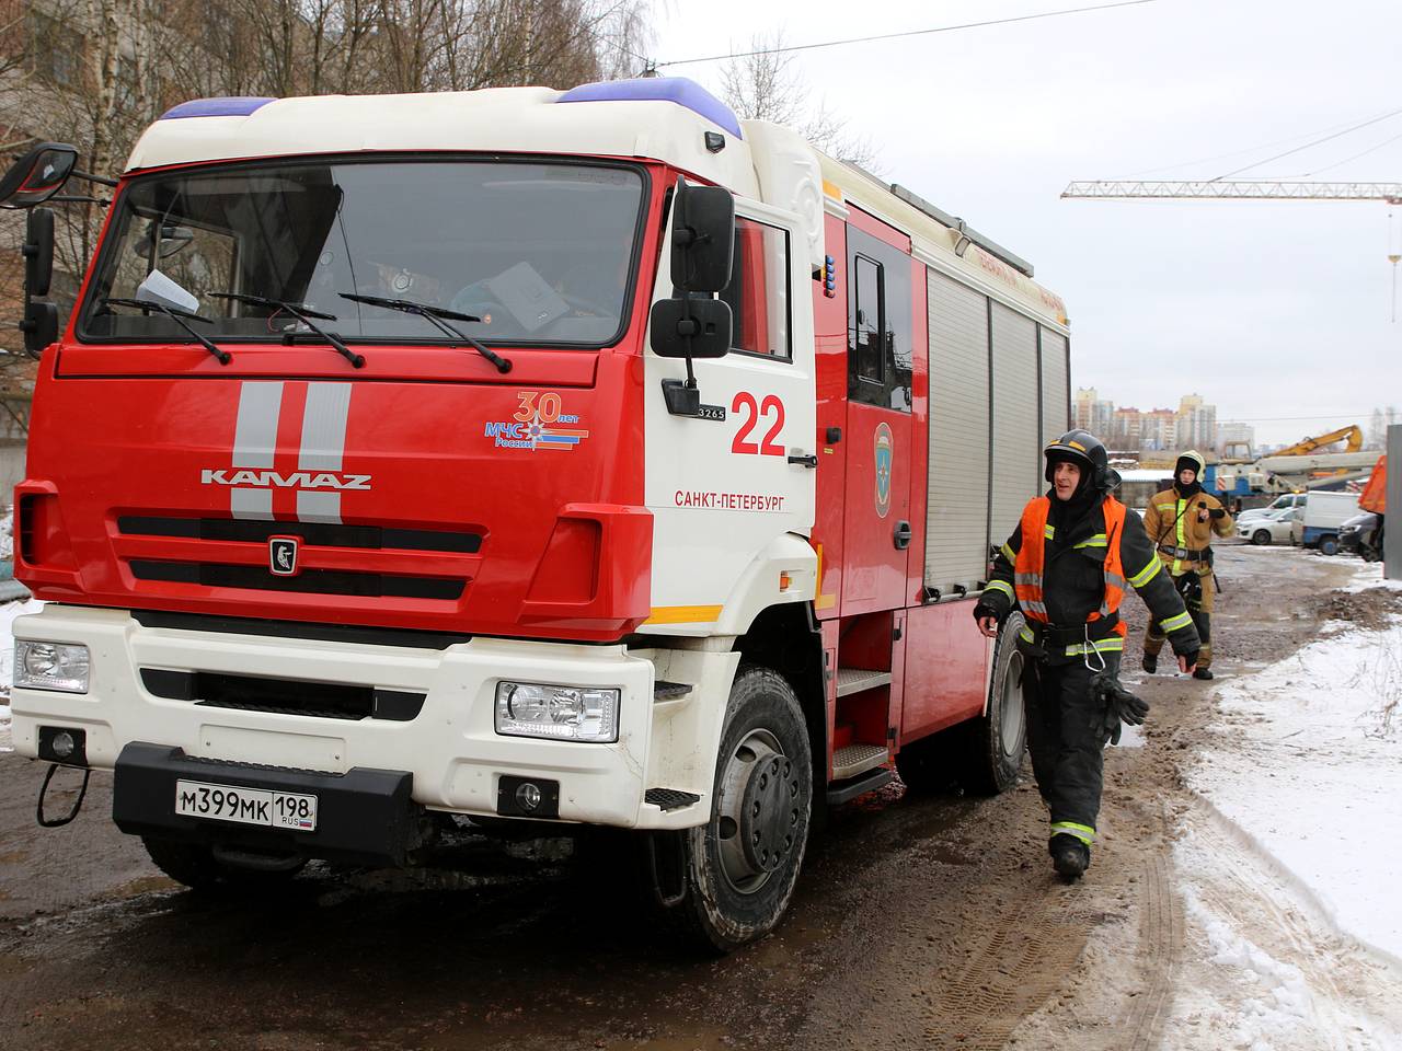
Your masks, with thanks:
M306 682L168 668L142 668L142 685L156 696L189 701L205 708L306 715L320 719L383 719L398 723L418 717L426 696L342 682Z

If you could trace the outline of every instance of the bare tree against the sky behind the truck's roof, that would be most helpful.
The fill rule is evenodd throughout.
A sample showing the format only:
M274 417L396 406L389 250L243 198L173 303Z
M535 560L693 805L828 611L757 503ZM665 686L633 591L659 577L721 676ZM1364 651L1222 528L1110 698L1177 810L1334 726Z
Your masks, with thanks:
M750 53L721 67L721 91L742 118L789 125L830 157L852 161L872 172L880 165L871 142L848 133L847 119L813 92L784 48L784 31L750 39Z

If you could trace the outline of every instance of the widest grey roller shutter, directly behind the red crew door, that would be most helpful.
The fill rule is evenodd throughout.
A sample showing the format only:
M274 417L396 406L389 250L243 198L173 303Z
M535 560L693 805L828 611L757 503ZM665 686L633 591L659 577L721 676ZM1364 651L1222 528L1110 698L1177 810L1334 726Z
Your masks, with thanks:
M988 300L930 272L925 586L974 589L988 562ZM1001 542L1001 541L1000 541Z

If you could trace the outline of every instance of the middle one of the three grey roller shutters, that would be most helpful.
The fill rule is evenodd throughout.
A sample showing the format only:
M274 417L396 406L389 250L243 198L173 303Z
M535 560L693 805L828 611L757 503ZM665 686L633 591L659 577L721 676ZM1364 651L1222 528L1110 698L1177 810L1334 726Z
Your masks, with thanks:
M993 542L1016 527L1026 502L1043 489L1037 433L1037 325L993 304Z

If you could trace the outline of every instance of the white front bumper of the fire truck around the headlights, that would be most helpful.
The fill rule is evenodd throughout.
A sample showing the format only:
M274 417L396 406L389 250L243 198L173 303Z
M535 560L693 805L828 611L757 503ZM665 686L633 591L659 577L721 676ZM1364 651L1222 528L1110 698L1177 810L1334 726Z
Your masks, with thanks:
M624 646L471 639L447 649L226 635L147 628L125 610L50 604L14 624L17 639L91 650L87 694L15 688L14 743L35 757L38 727L87 731L88 762L111 768L144 741L196 758L334 774L355 767L407 771L414 800L468 814L496 813L502 775L559 782L559 817L621 827L684 827L705 806L665 813L644 802L653 720L653 664ZM142 668L210 671L372 685L425 694L411 722L334 719L199 706L153 695ZM617 744L503 737L494 727L499 680L621 689Z

